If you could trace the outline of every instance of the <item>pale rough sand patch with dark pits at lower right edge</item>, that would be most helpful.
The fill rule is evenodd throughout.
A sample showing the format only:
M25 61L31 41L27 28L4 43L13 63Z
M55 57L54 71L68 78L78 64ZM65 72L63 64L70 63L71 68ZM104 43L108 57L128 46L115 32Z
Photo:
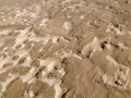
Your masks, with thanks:
M114 75L107 75L106 73L103 75L103 82L107 85L118 87L120 89L129 89L129 85L131 82L130 73L128 66L124 66L120 63L118 63L112 57L107 56L107 60L109 60L112 65L117 68L117 71L114 73Z

